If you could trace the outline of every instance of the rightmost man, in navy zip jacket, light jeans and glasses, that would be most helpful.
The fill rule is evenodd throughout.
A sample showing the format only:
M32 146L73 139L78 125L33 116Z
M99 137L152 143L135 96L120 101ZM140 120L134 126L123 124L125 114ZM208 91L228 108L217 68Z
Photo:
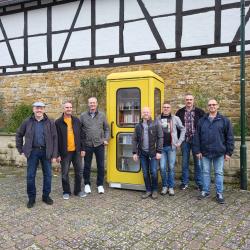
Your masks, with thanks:
M210 194L210 168L214 165L216 200L224 203L223 168L234 150L234 136L231 122L218 112L216 100L208 101L209 113L201 118L194 137L194 152L202 162L203 189L198 197Z

